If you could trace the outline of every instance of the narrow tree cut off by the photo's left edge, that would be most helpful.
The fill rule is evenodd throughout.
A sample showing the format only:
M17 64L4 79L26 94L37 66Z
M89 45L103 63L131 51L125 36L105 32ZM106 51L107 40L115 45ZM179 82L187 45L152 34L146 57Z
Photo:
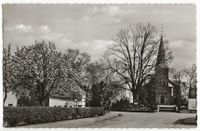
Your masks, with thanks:
M3 105L7 99L7 93L12 90L12 57L11 57L11 45L7 48L3 48Z

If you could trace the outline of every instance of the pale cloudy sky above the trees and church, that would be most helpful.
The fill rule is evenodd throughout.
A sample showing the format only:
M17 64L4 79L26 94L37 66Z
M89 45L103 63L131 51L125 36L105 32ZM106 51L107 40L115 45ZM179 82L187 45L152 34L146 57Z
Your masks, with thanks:
M163 25L177 70L196 63L196 7L192 4L3 5L3 41L16 46L53 41L59 51L87 51L101 57L113 37L130 24Z

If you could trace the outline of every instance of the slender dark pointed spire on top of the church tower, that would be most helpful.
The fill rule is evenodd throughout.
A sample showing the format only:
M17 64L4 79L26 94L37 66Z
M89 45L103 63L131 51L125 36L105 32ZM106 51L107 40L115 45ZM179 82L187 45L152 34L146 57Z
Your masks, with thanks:
M162 63L166 64L166 56L165 56L165 47L164 47L164 42L163 42L163 35L161 34L156 65L160 65Z

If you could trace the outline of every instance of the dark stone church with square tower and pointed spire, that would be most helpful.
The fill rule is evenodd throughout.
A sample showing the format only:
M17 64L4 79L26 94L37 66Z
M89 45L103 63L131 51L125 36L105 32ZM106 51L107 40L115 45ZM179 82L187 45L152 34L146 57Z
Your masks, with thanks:
M166 51L163 36L160 38L160 45L155 65L155 74L144 89L146 101L149 105L178 105L180 86L169 80L169 67L166 61Z

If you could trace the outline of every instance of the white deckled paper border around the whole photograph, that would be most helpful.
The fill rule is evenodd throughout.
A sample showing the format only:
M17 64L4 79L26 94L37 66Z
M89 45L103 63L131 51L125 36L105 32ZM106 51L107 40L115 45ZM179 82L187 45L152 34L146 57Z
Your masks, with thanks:
M198 124L197 124L197 128L191 128L191 129L170 129L170 130L199 130L200 127L199 127L199 123L200 123L200 113L199 113L199 106L200 106L200 51L199 51L199 48L200 48L200 26L199 26L199 23L200 23L200 2L199 0L0 0L0 3L1 3L1 7L0 7L0 18L1 18L1 21L0 21L0 24L2 25L2 4L63 4L63 3L69 3L69 4L196 4L196 19L197 19L197 41L196 41L196 48L197 48L197 54L196 54L196 59L197 59L197 80L198 80L198 83L197 83L197 90L198 90L198 95L197 95L197 106L198 106L198 111L197 111L197 115L198 115ZM54 130L55 128L37 128L37 129L26 129L26 128L3 128L3 92L2 92L2 85L3 85L3 82L2 82L2 47L3 47L3 36L2 36L2 26L0 26L0 33L1 33L1 39L0 39L0 127L1 127L1 130ZM62 128L62 129L57 129L57 130L62 130L62 131L66 131L66 130L102 130L102 129L98 129L98 128L90 128L90 129L87 129L87 128L79 128L79 129L67 129L67 128ZM169 130L167 128L165 129L162 129L162 128L104 128L103 130L111 130L111 131L114 131L114 130L118 130L118 131L121 131L121 130L155 130L155 131L159 131L159 130Z

